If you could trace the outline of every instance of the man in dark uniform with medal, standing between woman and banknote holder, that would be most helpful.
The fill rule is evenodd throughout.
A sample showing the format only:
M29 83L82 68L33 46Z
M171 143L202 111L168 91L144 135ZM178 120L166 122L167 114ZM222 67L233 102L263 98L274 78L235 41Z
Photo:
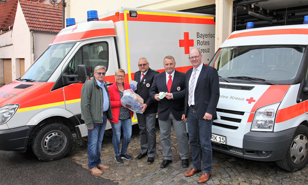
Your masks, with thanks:
M140 58L138 61L139 71L135 73L134 80L138 82L135 93L141 96L144 104L141 106L143 114L136 113L139 125L141 152L136 157L137 160L148 155L148 164L154 163L156 155L156 113L157 103L149 98L149 90L153 83L154 75L159 73L149 68L149 62L146 58Z

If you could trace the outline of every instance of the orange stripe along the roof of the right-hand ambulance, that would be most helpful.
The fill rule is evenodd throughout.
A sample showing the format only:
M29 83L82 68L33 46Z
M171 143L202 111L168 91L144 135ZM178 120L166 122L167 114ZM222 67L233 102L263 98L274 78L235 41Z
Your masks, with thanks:
M275 30L258 30L258 31L247 31L238 34L232 34L227 39L239 38L239 37L250 37L250 36L261 36L261 35L282 35L282 34L308 34L308 29L275 29Z

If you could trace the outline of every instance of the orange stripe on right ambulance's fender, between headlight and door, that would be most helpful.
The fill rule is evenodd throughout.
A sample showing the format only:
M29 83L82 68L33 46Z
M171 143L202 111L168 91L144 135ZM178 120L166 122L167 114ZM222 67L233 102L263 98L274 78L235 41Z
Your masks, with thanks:
M277 111L276 122L281 123L305 114L304 102Z

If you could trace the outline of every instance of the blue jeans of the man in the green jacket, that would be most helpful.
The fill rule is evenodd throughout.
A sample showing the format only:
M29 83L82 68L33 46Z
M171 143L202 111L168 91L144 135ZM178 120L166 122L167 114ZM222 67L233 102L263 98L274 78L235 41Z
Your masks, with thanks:
M107 115L103 114L103 123L93 123L92 130L88 129L88 168L94 168L101 164L100 149L107 123Z

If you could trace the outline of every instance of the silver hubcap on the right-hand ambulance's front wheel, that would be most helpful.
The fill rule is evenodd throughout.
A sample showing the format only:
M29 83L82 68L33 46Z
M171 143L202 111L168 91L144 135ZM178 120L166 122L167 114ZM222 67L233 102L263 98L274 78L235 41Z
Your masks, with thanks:
M305 135L298 135L294 138L290 148L290 158L293 163L302 162L308 153L308 140Z

